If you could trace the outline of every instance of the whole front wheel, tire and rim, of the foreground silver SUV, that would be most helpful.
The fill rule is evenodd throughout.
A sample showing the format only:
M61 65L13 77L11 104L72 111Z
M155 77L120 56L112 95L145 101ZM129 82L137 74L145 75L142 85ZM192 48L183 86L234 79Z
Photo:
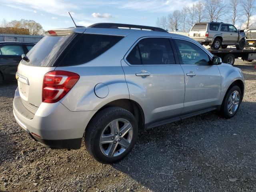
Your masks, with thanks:
M220 108L220 115L227 119L232 118L237 113L241 102L241 90L238 86L233 86L224 97Z

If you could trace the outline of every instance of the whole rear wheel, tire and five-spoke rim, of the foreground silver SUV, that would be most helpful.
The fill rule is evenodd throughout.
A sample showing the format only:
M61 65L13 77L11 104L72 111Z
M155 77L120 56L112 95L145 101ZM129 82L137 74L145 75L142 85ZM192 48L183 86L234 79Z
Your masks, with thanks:
M138 123L128 110L109 107L92 118L85 131L89 154L102 163L122 160L138 137Z

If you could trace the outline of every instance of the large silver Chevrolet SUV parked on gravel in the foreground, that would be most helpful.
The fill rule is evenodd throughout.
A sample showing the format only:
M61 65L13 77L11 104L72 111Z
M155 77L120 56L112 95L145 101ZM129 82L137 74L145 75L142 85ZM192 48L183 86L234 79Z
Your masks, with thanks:
M144 130L212 110L231 118L244 95L239 68L161 28L49 30L22 58L13 101L21 128L50 148L79 149L84 137L103 163L124 158Z

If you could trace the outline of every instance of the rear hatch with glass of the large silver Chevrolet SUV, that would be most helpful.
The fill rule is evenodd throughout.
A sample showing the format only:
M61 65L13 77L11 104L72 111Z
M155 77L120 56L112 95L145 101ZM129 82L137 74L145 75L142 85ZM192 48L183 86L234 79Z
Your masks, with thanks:
M21 60L16 78L23 105L33 114L42 103L44 75L56 68L55 62L76 36L72 30L51 30Z

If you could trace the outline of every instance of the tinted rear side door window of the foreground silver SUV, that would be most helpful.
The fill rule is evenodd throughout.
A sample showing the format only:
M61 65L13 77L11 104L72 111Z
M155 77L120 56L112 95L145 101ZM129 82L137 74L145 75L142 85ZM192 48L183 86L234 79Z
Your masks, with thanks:
M134 65L175 64L172 47L167 38L140 40L128 55L127 60Z

